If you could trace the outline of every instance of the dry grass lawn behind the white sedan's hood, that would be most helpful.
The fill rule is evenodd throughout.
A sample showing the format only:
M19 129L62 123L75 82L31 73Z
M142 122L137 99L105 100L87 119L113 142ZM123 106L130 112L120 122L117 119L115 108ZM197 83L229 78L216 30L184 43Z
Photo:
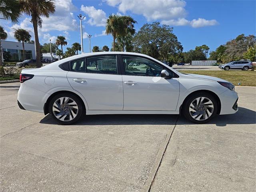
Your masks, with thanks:
M188 70L180 70L179 72L218 77L218 78L222 78L222 79L225 79L225 80L231 82L235 86L238 86L238 83L240 83L241 86L256 86L256 72L255 71L242 71L242 70L188 71Z

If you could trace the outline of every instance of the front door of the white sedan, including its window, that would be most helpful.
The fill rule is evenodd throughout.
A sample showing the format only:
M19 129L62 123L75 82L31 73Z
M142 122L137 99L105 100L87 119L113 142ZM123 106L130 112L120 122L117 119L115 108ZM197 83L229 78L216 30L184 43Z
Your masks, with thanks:
M122 55L119 61L123 74L124 110L176 110L178 78L161 78L163 66L149 58ZM130 63L140 65L130 66Z

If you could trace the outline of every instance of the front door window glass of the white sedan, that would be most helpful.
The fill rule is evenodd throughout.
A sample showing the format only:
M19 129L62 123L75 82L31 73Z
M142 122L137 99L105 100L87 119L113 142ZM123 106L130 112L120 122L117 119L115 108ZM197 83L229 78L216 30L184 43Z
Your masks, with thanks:
M126 75L161 76L162 66L141 57L122 56Z

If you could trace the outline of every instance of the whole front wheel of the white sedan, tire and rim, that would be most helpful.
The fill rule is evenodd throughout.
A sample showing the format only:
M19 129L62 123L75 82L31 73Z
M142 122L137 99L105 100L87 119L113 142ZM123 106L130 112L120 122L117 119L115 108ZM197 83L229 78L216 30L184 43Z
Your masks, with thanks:
M206 123L216 116L218 102L211 94L202 92L188 98L184 103L184 116L195 123Z

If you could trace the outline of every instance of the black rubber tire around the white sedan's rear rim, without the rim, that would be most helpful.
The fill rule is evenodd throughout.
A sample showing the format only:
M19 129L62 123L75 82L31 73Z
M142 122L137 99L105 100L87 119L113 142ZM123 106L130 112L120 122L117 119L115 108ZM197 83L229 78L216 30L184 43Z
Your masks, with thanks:
M76 102L77 104L77 107L78 107L78 112L76 114L76 116L72 119L72 120L60 120L58 119L54 114L56 114L56 111L53 111L53 105L54 103L59 99L59 98L62 98L62 97L65 97L65 98L71 98L72 100L74 100L74 102ZM63 107L63 106L62 106ZM70 110L70 109L69 109ZM74 110L74 109L73 109ZM85 113L85 109L84 109L84 105L82 104L82 101L80 98L78 98L76 95L74 94L70 94L70 93L61 93L61 94L57 94L56 96L54 96L49 104L48 104L48 111L50 113L50 115L52 116L52 118L54 120L56 120L59 124L63 124L63 125L69 125L69 124L73 124L74 122L77 122L82 114ZM71 112L71 110L70 110ZM74 114L74 111L72 111L73 114ZM75 112L76 112L76 109L75 109ZM68 112L67 112L68 113Z

